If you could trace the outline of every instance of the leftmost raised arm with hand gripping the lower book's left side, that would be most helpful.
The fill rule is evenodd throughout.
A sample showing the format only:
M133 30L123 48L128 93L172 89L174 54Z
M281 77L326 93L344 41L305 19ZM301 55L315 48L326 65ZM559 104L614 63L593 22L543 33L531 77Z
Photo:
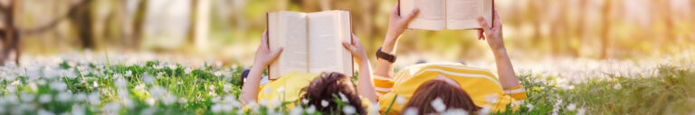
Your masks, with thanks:
M253 66L243 84L242 93L239 94L239 100L241 100L244 105L258 100L258 87L265 66L270 65L282 52L282 48L271 50L268 47L267 35L268 31L263 31L261 45L258 45L258 49L256 49L256 56L253 58Z

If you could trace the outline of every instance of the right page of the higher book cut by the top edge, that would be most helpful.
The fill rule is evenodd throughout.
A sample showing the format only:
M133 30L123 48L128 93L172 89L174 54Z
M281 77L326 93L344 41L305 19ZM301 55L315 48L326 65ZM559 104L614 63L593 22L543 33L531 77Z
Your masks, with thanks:
M480 29L478 16L483 16L488 22L491 21L489 19L492 13L485 13L486 9L491 9L485 2L491 3L491 0L447 0L446 2L447 29Z

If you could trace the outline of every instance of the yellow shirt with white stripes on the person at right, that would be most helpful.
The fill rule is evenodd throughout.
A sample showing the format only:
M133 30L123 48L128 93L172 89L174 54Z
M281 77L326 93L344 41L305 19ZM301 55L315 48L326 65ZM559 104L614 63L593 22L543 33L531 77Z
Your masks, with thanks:
M393 102L389 114L402 114L405 104L420 84L443 75L459 83L479 107L490 107L490 112L505 111L507 105L526 99L523 86L502 90L496 75L489 70L464 66L458 63L420 64L407 66L392 78L375 76L374 83L379 95L379 112L385 113ZM398 103L396 98L402 98ZM394 102L395 101L395 102ZM519 107L519 106L516 106ZM515 108L516 110L518 108Z

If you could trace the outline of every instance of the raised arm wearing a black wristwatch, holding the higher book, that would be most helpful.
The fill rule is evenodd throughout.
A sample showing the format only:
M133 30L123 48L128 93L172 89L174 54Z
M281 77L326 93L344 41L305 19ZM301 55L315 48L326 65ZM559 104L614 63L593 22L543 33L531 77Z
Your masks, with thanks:
M401 15L399 14L398 4L395 4L394 8L391 9L388 20L388 31L386 31L386 39L384 39L384 44L381 45L381 51L388 54L395 55L395 49L397 48L398 39L401 37L405 28L408 27L408 23L413 21L415 15L420 12L419 9L415 8L412 12ZM376 69L374 75L379 75L383 77L390 78L394 75L394 64L388 62L384 59L376 59Z

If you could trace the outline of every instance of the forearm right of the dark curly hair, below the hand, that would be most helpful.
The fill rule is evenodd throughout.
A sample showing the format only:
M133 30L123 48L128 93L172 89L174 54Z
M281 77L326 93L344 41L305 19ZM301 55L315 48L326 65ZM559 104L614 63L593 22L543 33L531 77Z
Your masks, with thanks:
M377 102L376 87L374 86L374 78L372 77L371 66L368 60L359 62L359 75L357 75L357 93L369 99L371 102Z

